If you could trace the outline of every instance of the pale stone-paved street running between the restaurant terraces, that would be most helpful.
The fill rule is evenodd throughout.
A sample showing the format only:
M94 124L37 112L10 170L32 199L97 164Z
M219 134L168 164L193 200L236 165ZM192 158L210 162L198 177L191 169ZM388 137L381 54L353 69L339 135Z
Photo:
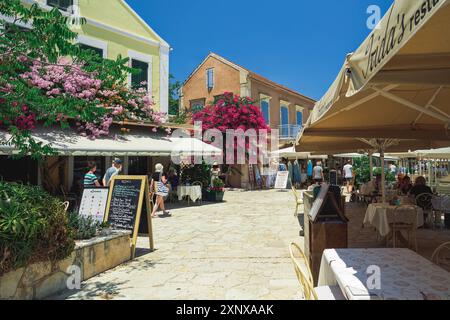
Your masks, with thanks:
M291 192L230 191L224 203L172 210L154 220L157 251L57 298L299 299L288 252L302 241L294 207Z

